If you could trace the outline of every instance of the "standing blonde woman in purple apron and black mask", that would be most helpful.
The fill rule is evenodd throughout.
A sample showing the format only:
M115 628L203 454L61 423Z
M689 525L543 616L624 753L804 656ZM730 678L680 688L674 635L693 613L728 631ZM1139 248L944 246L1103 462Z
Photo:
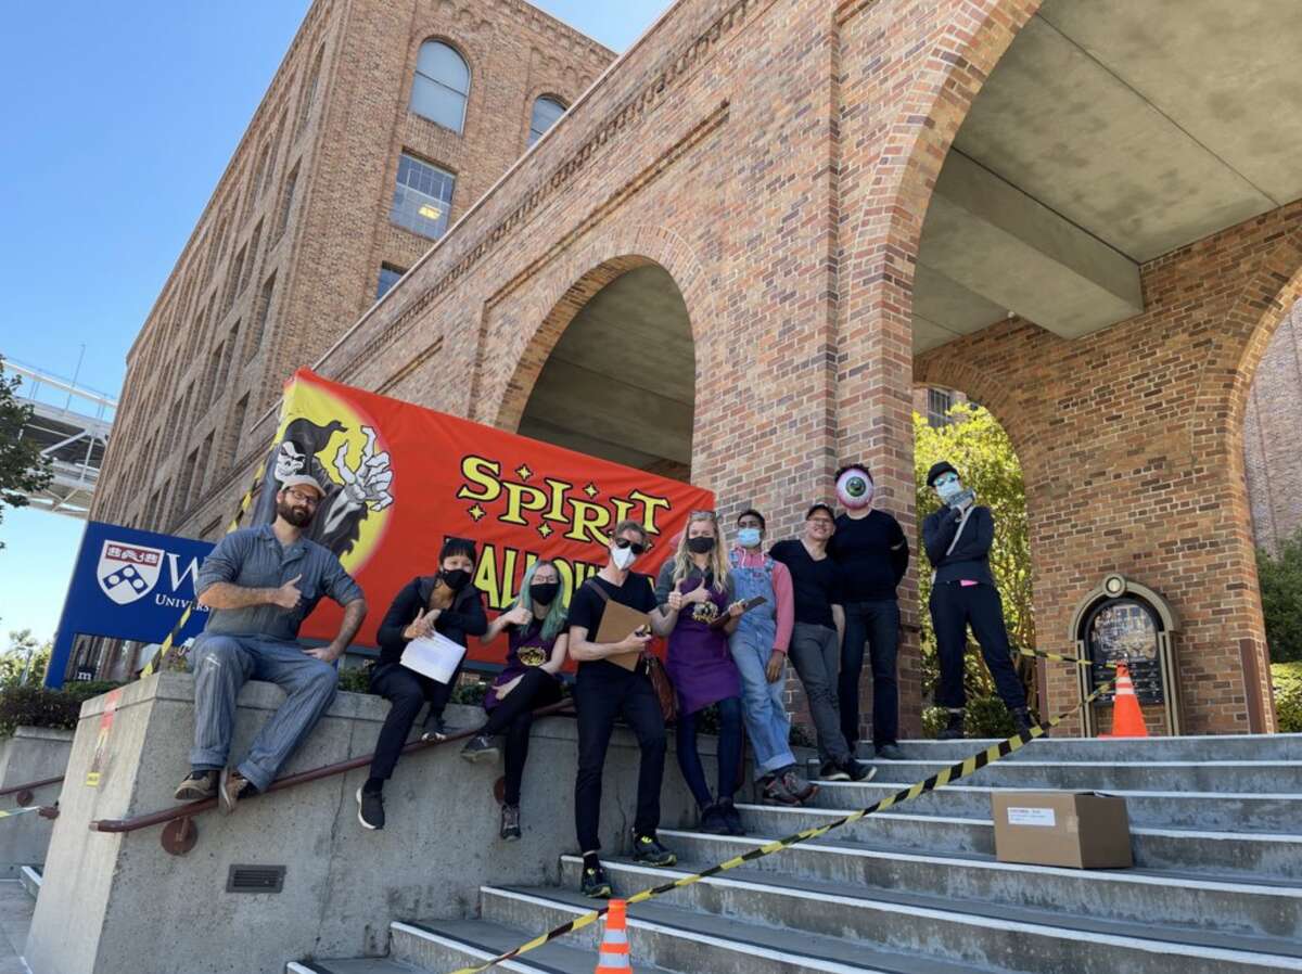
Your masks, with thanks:
M695 510L678 542L677 555L660 569L656 599L673 621L665 669L678 694L678 767L700 807L700 828L715 835L742 835L733 806L742 751L741 673L728 651L741 605L732 603L723 529L712 510ZM732 616L712 629L720 616ZM700 711L719 704L719 792L711 800L697 750Z

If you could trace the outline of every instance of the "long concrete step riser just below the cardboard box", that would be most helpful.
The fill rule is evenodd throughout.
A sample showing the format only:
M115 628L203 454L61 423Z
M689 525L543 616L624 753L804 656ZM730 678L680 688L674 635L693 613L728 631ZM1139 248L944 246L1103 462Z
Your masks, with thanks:
M764 841L668 829L661 837L678 854L680 866L693 872ZM572 857L561 861L570 885L578 884L579 862ZM1138 869L1023 866L996 862L991 856L905 853L848 841L801 844L727 875L743 871L777 874L784 882L853 885L865 896L902 896L937 909L966 902L971 910L992 915L1005 915L1010 908L1079 914L1212 931L1221 941L1229 935L1302 938L1302 887L1282 883L1233 883ZM647 885L655 884L650 874L646 879ZM768 915L785 914L773 904Z

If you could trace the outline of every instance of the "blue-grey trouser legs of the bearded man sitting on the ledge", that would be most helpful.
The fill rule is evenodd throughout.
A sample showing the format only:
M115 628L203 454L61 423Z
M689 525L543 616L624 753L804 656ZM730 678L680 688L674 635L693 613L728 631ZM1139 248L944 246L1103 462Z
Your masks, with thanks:
M204 635L190 651L194 669L194 749L190 767L221 768L230 751L236 697L250 680L266 680L285 691L262 725L249 754L236 768L264 792L294 749L335 699L339 672L309 656L297 643L246 635Z

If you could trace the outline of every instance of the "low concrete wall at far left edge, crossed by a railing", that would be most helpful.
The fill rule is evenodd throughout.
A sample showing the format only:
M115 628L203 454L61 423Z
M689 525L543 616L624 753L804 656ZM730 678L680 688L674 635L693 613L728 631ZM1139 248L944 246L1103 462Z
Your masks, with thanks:
M73 747L72 730L47 727L20 727L13 737L0 744L0 788L13 788L64 773ZM62 785L53 784L34 790L33 803L53 805ZM20 807L17 796L0 798L0 807ZM0 822L0 876L17 875L20 866L39 866L46 861L53 822L30 814Z

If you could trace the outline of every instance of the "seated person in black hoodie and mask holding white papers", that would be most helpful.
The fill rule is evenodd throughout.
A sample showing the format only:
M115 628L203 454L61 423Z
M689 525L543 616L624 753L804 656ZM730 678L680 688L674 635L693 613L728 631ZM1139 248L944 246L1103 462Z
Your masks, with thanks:
M424 741L441 741L448 732L443 711L452 697L452 688L461 675L458 665L445 684L402 665L402 650L418 635L432 632L466 645L466 637L488 632L483 595L471 583L475 568L475 543L465 538L448 538L439 552L439 572L417 576L393 599L380 622L380 659L371 673L371 693L392 704L380 728L371 759L371 775L357 792L357 818L363 828L384 828L384 783L393 775L398 755L406 744L417 714L428 701L424 719Z

